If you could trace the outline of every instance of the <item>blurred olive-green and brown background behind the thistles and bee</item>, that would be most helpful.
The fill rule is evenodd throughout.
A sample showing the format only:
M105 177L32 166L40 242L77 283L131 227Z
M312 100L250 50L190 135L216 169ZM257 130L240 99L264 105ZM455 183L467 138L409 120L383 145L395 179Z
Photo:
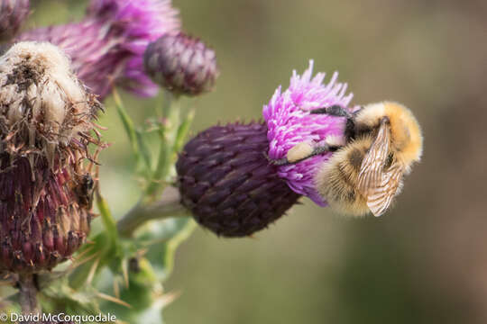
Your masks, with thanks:
M85 1L36 1L31 27L77 20ZM183 29L216 49L216 90L195 101L194 132L261 118L308 59L340 72L354 103L415 112L421 164L381 218L346 219L303 199L254 238L204 229L179 248L168 323L487 322L487 2L174 0ZM142 122L160 98L125 96ZM115 211L137 196L111 101L100 123L102 190Z

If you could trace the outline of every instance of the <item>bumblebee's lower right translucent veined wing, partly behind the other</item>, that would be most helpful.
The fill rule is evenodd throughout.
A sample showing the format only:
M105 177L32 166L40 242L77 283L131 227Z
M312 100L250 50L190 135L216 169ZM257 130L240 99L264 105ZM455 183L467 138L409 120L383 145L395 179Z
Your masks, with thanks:
M381 216L389 206L400 187L404 167L396 162L391 165L389 170L382 174L381 184L374 187L367 196L367 206L374 216Z

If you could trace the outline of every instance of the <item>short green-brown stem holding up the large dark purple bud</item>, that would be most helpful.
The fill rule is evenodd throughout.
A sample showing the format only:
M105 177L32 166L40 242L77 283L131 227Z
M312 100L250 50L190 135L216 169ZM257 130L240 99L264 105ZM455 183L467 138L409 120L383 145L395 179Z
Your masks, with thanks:
M188 211L180 204L179 191L166 187L158 202L145 205L136 204L131 211L118 221L117 229L121 237L130 238L135 229L149 220L162 220L169 217L186 216Z

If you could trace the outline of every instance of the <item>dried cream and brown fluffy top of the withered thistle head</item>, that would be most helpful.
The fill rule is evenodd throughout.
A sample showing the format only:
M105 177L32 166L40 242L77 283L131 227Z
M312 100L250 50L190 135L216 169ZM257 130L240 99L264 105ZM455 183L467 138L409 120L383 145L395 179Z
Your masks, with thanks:
M50 43L20 42L0 57L0 128L3 150L31 152L61 166L86 149L91 120L101 108Z

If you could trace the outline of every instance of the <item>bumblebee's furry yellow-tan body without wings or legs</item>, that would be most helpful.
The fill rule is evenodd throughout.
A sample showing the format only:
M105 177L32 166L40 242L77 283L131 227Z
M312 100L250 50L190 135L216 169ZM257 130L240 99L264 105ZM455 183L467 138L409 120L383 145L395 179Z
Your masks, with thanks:
M354 117L356 138L336 151L315 176L318 192L336 211L352 215L370 212L367 198L359 193L357 183L363 157L371 148L383 117L389 118L391 130L391 161L383 166L384 172L392 163L399 163L407 174L410 166L419 161L423 138L418 121L409 109L391 102L365 106ZM401 185L400 179L396 194L400 192Z

